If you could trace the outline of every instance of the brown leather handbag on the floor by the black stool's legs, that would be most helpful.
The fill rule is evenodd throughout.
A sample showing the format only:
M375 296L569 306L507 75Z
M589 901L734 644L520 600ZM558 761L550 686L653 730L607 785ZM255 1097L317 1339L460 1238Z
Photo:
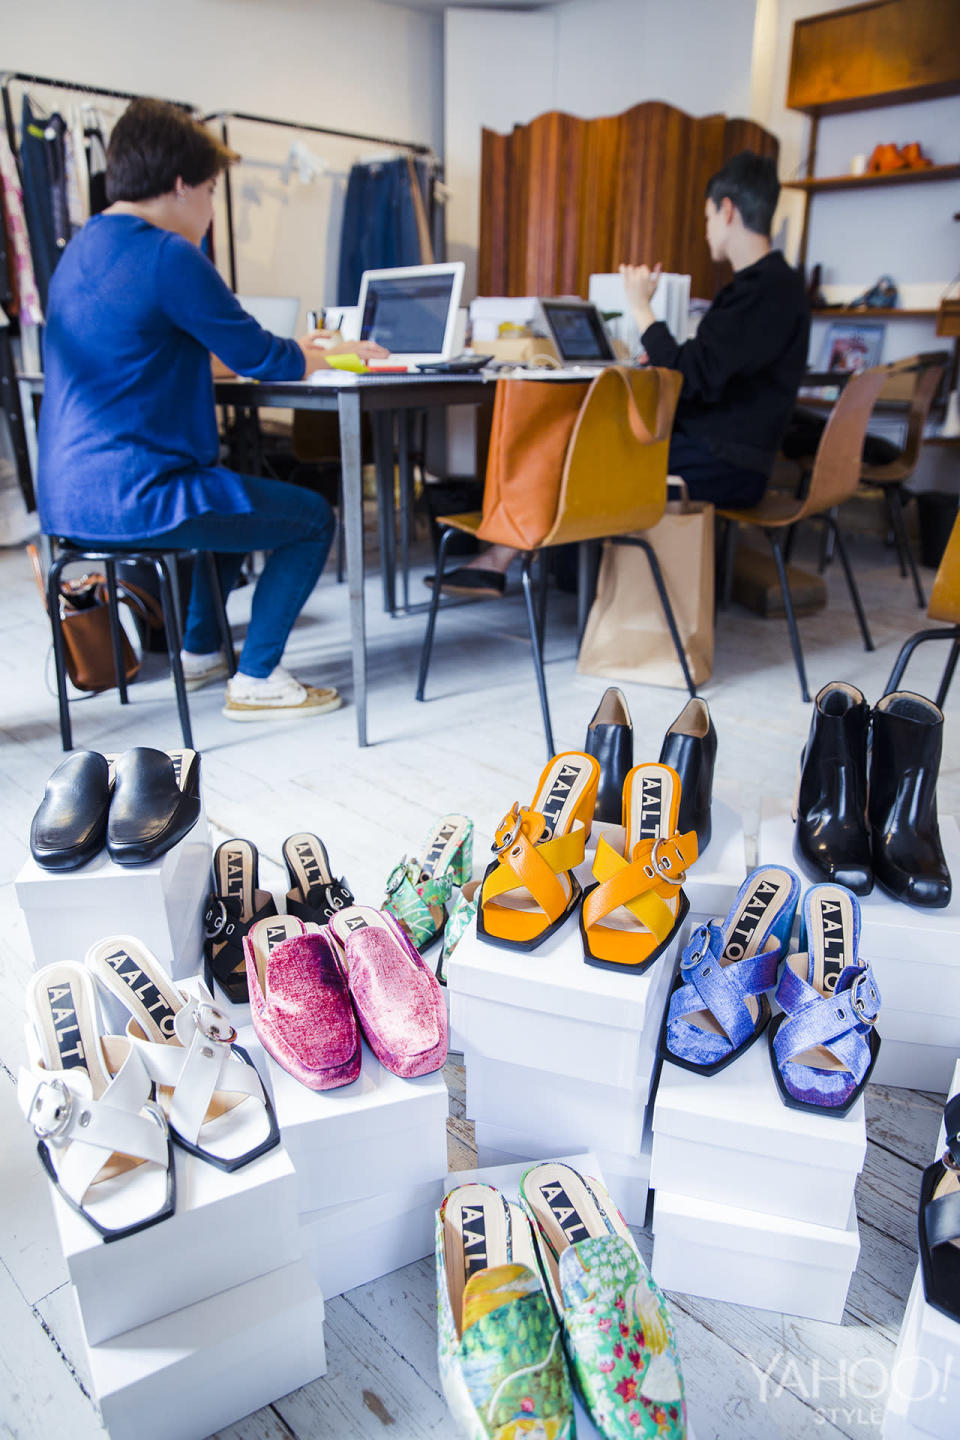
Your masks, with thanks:
M46 609L46 585L36 546L27 546L43 608ZM163 628L163 611L153 595L128 580L117 580L117 598L130 606L134 615L150 628ZM60 580L60 625L66 651L66 672L78 690L98 693L112 690L117 684L114 668L114 647L109 635L109 609L107 605L107 576L99 572L83 575L76 580ZM127 632L119 632L121 652L127 680L140 672L140 657L130 644Z

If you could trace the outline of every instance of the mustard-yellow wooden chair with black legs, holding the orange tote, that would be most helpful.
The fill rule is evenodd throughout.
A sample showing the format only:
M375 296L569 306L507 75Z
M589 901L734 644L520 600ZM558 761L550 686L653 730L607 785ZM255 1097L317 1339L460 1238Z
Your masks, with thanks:
M656 585L656 592L669 628L676 658L684 672L684 681L691 696L695 696L694 681L687 665L687 655L679 638L674 609L664 585L664 576L652 544L643 534L633 531L652 530L661 520L666 505L666 459L674 413L679 399L681 376L674 370L629 372L629 386L633 392L636 410L648 431L643 444L632 429L628 408L622 403L622 380L613 370L604 370L593 382L580 409L573 436L569 442L560 478L560 497L554 523L541 543L521 550L520 579L527 606L530 644L537 674L540 708L543 713L547 755L554 755L550 704L543 665L543 639L545 625L545 552L554 546L612 540L615 544L638 546L646 554ZM501 380L499 384L543 383ZM561 382L558 382L561 383ZM620 396L617 396L617 389ZM423 700L433 631L440 603L442 576L450 537L458 531L475 534L481 540L494 539L482 533L484 514L440 516L443 528L438 554L436 579L430 599L430 611L420 651L420 674L417 678L417 700ZM534 599L531 569L540 556L540 598Z

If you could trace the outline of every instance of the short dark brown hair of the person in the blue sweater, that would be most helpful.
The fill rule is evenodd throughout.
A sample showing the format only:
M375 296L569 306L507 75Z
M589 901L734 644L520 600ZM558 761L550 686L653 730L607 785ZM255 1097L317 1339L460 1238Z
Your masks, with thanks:
M189 111L163 99L135 99L114 125L107 147L107 199L153 200L184 184L213 180L239 160Z

